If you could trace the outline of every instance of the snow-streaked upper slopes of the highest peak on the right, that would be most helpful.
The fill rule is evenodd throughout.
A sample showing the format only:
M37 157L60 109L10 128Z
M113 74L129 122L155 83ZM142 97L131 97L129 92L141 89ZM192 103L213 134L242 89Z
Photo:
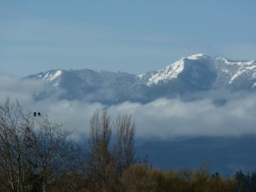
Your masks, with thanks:
M208 70L205 71L205 69ZM191 83L196 80L197 84L200 83L197 79L205 75L203 73L215 72L215 77L212 79L214 81L213 89L219 89L223 86L233 89L235 84L247 84L247 81L250 81L251 89L256 86L255 60L231 61L222 57L210 57L202 53L184 57L172 65L166 66L165 69L152 73L146 84L147 86L167 84L174 78L184 76L185 71L186 76L190 77L188 80ZM234 84L235 80L237 81Z

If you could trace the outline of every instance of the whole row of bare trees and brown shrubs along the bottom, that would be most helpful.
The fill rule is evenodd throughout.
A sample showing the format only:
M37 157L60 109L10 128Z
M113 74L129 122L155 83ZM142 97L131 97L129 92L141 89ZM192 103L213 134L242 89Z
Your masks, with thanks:
M255 172L225 178L207 166L164 172L135 162L129 114L111 121L96 110L89 139L79 142L63 126L9 98L0 104L0 191L256 191Z

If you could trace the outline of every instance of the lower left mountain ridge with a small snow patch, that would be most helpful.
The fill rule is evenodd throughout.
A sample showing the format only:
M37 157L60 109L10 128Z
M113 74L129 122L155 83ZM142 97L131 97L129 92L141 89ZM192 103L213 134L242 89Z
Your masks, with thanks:
M136 76L124 72L92 70L52 70L26 78L41 80L44 86L34 94L36 100L58 95L59 99L88 102L115 102L127 99L127 87L134 84Z

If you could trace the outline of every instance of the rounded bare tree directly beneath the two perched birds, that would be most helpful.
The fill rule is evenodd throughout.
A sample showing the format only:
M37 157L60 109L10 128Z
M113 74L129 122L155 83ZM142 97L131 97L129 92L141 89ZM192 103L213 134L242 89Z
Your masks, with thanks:
M41 191L51 191L59 177L69 169L74 143L67 139L69 133L63 131L62 122L49 121L47 117L37 119L29 139L32 146L28 148L28 162L41 183Z

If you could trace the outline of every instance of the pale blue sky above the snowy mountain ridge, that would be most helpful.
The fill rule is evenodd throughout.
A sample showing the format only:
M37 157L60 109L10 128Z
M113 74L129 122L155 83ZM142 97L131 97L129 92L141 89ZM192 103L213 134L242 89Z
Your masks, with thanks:
M196 53L256 59L253 0L0 0L0 72L140 74Z

